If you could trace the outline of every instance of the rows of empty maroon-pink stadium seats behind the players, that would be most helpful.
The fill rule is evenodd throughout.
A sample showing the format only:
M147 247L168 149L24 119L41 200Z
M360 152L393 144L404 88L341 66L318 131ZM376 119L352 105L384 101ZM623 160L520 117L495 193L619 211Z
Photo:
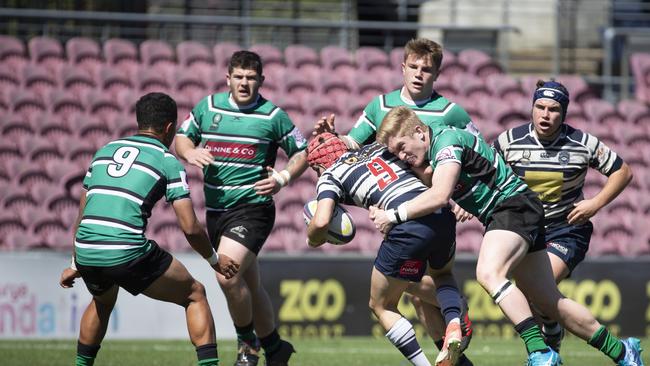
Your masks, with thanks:
M69 250L85 169L99 146L136 131L137 98L149 91L168 92L183 118L204 96L226 90L228 58L240 48L227 42L72 38L62 43L49 37L25 42L0 36L0 250ZM347 132L372 97L402 85L401 48L385 53L372 47L350 52L338 46L317 51L257 44L250 49L265 62L263 95L283 107L305 134L329 113L336 114L337 129ZM559 77L571 93L568 123L600 137L635 174L621 197L596 216L590 255L650 254L650 231L641 224L650 219L648 60L650 54L630 59L635 100L617 105L599 99L579 76ZM503 129L530 120L530 96L538 78L504 74L481 51L445 50L435 89L463 106L491 141ZM286 157L280 154L278 160L283 166ZM202 174L187 169L195 208L202 213ZM590 174L585 195L597 193L604 179ZM304 244L302 204L313 197L314 187L315 176L307 172L276 196L282 214L264 250L373 254L381 235L359 209L351 210L358 227L352 243L320 249ZM156 209L149 232L166 248L189 250L169 205ZM459 225L458 250L476 253L482 233L476 221Z

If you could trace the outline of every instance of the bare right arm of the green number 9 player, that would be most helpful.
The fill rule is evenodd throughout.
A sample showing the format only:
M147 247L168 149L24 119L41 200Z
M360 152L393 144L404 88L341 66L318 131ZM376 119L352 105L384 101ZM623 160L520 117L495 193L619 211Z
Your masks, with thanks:
M215 271L221 273L226 278L234 277L239 271L239 263L236 263L224 254L218 255L215 253L205 230L203 230L199 220L196 218L194 208L192 207L192 200L182 198L174 201L172 206L174 207L174 212L176 212L178 224L192 248L207 260Z

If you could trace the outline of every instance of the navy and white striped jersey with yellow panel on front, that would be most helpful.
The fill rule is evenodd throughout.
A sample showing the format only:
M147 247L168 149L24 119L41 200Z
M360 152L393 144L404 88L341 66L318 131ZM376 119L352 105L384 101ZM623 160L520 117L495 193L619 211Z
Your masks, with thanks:
M544 204L547 228L567 225L574 203L583 199L589 167L609 176L623 160L598 138L563 124L553 141L537 138L532 123L509 129L494 147Z

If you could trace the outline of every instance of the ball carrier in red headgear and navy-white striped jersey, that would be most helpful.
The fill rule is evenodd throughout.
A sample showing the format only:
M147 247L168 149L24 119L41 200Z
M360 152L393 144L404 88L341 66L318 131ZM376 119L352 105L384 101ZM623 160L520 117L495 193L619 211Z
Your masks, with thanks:
M394 209L427 189L406 164L382 145L373 143L360 150L347 150L343 141L327 132L315 136L309 144L309 164L320 176L318 205L307 229L310 246L325 242L337 203ZM430 303L440 303L448 325L436 365L456 365L459 357L461 362L469 362L460 355L461 299L451 272L456 221L449 211L449 207L444 207L396 225L381 243L372 271L370 307L391 343L418 366L429 365L429 361L414 337L411 323L397 310L404 291ZM421 284L425 272L428 278ZM430 291L432 283L436 285L437 299Z

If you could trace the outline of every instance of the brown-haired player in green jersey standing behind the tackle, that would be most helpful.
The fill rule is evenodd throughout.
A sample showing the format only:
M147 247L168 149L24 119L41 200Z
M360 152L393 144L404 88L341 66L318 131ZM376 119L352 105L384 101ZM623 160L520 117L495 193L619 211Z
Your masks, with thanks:
M478 129L467 112L458 104L453 103L438 94L434 83L440 73L442 65L442 47L429 39L416 38L404 46L404 60L402 63L403 86L390 93L379 95L372 99L366 106L356 124L347 136L340 135L341 139L351 149L373 142L376 130L379 128L384 116L395 107L406 106L411 108L418 117L430 126L455 126L480 135ZM335 116L322 117L316 122L313 134L323 131L334 132ZM411 167L419 176L426 180L424 172ZM423 169L424 170L424 169ZM430 173L429 173L430 175ZM452 204L458 221L463 222L472 218L458 205ZM420 301L417 296L412 298L414 307L420 321L434 340L436 347L442 347L444 329L439 329L437 321L441 314L438 308L429 306ZM472 335L471 321L467 315L467 303L463 299L463 333L464 340L469 342ZM464 364L469 366L470 364Z

